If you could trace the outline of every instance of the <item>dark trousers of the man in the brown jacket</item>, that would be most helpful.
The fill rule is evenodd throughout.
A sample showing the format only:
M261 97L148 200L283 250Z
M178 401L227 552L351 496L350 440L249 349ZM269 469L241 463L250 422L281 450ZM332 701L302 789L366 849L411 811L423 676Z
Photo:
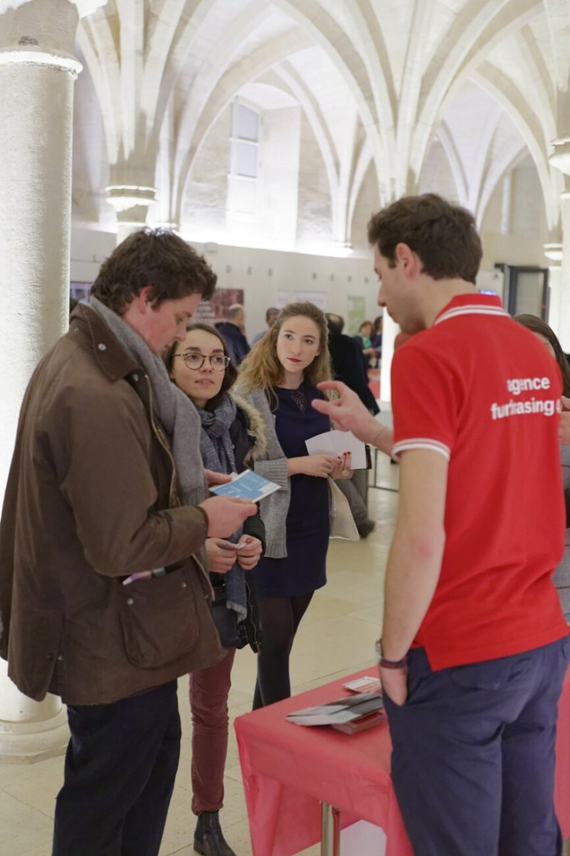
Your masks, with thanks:
M68 706L52 856L157 856L180 757L176 681Z

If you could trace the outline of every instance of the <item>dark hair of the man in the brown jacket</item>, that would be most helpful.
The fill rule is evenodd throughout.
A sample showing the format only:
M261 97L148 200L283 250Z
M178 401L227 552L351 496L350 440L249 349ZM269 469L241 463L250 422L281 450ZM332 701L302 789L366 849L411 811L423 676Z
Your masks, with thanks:
M201 294L209 300L217 276L204 256L167 229L140 229L128 235L101 265L91 294L122 315L147 285L153 308L164 300Z

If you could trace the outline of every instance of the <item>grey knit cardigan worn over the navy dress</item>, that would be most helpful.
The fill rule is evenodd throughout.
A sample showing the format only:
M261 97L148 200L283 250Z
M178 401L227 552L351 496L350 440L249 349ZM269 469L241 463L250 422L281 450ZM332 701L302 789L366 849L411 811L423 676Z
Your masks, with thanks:
M259 502L261 520L265 526L265 553L268 559L283 559L287 556L287 513L291 499L291 483L287 474L287 458L277 440L275 430L275 413L271 413L269 402L263 389L252 389L244 392L239 381L236 389L240 398L258 410L265 422L267 443L264 449L252 450L253 469L264 479L279 484L281 490L276 490Z

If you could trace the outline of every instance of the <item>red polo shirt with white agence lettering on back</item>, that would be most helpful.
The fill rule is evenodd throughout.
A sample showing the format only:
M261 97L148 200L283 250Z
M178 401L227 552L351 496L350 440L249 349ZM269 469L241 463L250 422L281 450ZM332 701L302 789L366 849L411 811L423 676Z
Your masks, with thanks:
M566 526L561 376L489 295L461 294L392 363L394 454L448 459L441 574L414 645L432 669L567 634L551 581Z

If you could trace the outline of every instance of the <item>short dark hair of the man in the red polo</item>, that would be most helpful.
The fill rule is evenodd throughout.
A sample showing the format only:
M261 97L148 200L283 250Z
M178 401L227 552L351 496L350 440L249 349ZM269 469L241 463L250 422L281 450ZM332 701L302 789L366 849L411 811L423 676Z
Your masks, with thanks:
M473 285L483 255L470 211L436 193L406 196L379 211L368 223L368 241L377 244L390 267L395 267L396 245L404 243L433 279L460 278Z

